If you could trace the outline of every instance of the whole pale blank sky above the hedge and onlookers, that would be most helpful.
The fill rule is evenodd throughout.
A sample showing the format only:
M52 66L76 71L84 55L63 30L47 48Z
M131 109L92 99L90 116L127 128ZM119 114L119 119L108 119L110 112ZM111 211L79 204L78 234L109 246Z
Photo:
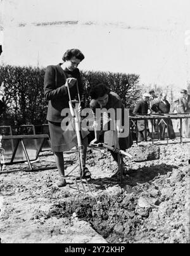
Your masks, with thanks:
M38 59L46 66L56 63L63 46L77 46L85 70L135 73L142 83L175 87L190 80L189 0L0 1L6 63L36 65ZM64 21L78 23L34 26Z

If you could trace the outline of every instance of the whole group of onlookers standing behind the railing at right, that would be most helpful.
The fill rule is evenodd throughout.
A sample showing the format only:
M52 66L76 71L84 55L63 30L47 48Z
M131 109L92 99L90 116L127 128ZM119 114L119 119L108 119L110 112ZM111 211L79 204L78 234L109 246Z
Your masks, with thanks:
M144 93L142 98L137 101L133 110L135 115L159 115L168 113L190 113L190 94L186 89L181 90L181 96L178 99L174 99L174 108L171 112L171 105L167 100L167 93L160 93L156 95L152 89L149 93ZM165 133L167 131L169 139L175 139L175 132L170 118L156 118L151 120L153 124L154 134L158 134L161 140L165 139ZM182 136L190 138L190 118L184 118L182 123ZM138 142L150 141L151 136L148 129L148 120L137 120Z

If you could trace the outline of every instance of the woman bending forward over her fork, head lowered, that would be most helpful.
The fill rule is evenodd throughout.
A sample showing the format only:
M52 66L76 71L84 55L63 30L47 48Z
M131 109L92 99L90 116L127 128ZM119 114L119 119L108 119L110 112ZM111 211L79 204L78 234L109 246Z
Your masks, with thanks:
M112 130L115 131L117 127L117 132L118 132L118 146L120 150L126 150L127 148L130 148L132 146L132 137L130 134L129 130L129 135L127 136L121 136L122 132L124 134L124 130L127 128L129 129L129 122L127 122L127 127L125 127L125 120L124 118L126 117L124 115L124 105L122 104L122 101L118 94L113 93L108 87L105 86L105 84L97 84L96 86L92 87L90 91L90 96L91 96L91 103L90 106L92 108L92 111L94 112L94 115L97 117L97 110L105 110L103 112L103 118L107 119L108 121L108 131ZM107 110L107 111L106 111ZM115 113L112 117L111 115L108 116L109 110L113 110ZM121 110L121 115L117 115L117 110ZM113 113L110 112L110 113ZM100 134L101 131L100 129L97 129L97 119L94 123L94 135L95 138L91 141L91 144L93 143L98 143L100 142ZM113 122L115 122L116 126L113 127ZM104 120L103 120L104 123ZM106 121L105 121L106 123ZM124 126L123 126L124 125ZM124 127L124 128L123 128ZM114 129L115 128L115 129ZM104 127L101 127L101 130L104 130ZM120 136L119 136L120 135ZM112 146L114 146L112 144ZM117 153L110 151L113 159L118 163L118 155ZM124 167L125 163L122 160L122 167ZM116 172L112 177L117 177L118 174L120 174L120 170ZM127 170L123 168L123 174L127 174Z

